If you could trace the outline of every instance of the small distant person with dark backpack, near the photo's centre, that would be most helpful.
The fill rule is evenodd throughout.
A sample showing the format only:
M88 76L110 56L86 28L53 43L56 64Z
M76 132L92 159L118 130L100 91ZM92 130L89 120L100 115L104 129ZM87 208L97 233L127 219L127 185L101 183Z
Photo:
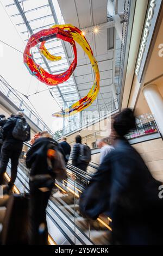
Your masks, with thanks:
M84 170L91 160L91 150L87 145L82 144L82 137L80 135L76 136L76 143L73 146L72 151L72 164L73 166Z

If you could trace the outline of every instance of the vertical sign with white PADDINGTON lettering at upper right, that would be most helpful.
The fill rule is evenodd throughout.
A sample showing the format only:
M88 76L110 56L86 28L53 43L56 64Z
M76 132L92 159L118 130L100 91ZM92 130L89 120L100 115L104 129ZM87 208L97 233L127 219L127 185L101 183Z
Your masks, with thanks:
M139 53L136 61L135 74L139 82L141 82L143 70L145 68L146 59L148 56L149 46L151 44L156 20L158 18L159 10L161 7L161 0L149 0L145 25L143 28Z

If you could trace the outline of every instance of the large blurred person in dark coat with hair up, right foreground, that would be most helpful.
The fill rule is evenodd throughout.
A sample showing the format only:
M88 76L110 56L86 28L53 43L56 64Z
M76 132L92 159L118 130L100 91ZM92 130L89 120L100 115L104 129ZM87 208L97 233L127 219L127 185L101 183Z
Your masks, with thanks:
M112 243L122 245L163 244L163 200L159 186L145 162L124 137L135 129L131 109L114 118L112 150L99 166L80 198L80 211L94 220L99 214L111 217ZM153 221L154 220L154 221Z

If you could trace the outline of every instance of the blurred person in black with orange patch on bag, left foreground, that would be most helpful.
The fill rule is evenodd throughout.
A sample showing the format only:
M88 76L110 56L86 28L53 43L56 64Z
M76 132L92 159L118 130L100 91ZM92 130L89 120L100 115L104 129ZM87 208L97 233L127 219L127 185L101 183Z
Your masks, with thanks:
M59 153L57 142L52 139L51 135L44 133L39 139L36 139L27 152L26 164L28 168L31 168L29 243L30 245L48 245L46 207L57 174L62 171L64 176L60 180L67 178L65 161ZM54 167L58 168L55 169L55 172Z

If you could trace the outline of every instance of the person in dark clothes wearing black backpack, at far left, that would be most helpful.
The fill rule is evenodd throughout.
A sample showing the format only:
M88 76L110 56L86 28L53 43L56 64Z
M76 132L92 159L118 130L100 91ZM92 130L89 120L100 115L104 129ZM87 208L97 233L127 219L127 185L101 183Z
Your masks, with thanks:
M7 120L3 126L3 145L1 149L0 164L0 185L3 182L3 176L7 168L9 159L11 159L11 179L9 190L14 186L17 175L18 157L21 154L23 142L30 139L30 126L24 118L24 113L18 111L14 117Z

